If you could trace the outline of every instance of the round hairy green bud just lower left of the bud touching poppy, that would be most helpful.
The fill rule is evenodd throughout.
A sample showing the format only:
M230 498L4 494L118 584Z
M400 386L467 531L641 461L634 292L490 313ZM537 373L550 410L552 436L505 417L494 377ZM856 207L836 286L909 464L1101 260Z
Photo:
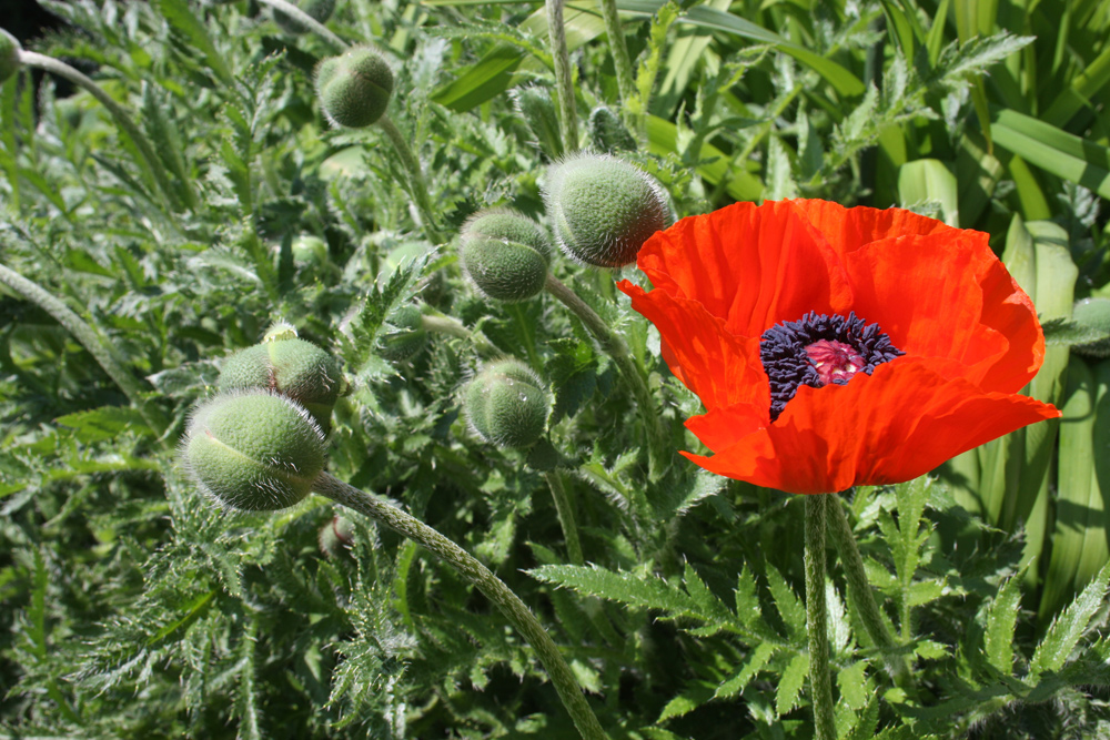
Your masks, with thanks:
M532 219L507 209L482 211L463 226L458 256L484 295L526 301L544 290L551 237Z

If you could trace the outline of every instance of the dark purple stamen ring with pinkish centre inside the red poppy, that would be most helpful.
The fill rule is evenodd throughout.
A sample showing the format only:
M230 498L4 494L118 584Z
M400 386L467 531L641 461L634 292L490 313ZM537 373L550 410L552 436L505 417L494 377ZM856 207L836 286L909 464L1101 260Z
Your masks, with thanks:
M770 378L770 420L803 385L845 385L856 373L870 375L904 354L878 324L855 312L847 317L810 312L800 321L775 324L759 337L759 359Z

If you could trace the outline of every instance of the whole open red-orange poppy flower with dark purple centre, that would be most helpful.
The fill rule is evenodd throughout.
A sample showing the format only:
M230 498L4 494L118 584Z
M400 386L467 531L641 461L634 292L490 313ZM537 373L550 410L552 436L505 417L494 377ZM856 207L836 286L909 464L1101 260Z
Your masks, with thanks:
M737 203L639 251L619 287L705 404L686 426L730 478L795 494L916 478L1060 413L1016 395L1037 312L980 232L825 201Z

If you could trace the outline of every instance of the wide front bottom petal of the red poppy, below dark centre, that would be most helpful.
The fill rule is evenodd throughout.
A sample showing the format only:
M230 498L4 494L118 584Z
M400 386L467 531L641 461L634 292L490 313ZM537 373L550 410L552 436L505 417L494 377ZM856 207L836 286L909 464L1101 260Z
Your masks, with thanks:
M1036 399L985 393L963 378L945 378L927 359L900 357L844 386L803 386L774 424L713 457L683 454L718 475L823 494L909 480L972 447L1059 416Z

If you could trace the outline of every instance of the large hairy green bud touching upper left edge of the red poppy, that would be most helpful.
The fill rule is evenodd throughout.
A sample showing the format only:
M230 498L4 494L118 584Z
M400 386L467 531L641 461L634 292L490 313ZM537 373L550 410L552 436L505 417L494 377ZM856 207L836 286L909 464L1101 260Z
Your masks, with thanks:
M596 267L620 267L670 223L663 187L608 154L576 154L547 170L547 215L559 249Z

